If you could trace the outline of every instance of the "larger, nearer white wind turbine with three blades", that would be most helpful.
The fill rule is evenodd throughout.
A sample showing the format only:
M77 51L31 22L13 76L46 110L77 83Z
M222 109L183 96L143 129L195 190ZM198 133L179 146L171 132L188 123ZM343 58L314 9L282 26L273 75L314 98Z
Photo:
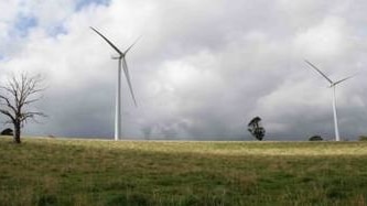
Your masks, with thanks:
M130 94L133 100L133 104L137 106L137 100L133 95L132 86L131 86L131 80L130 80L130 75L129 75L129 69L128 69L128 64L126 62L126 54L130 51L130 48L138 42L131 44L125 52L121 52L117 46L112 44L111 41L109 41L106 36L104 36L100 32L98 32L96 29L91 28L93 31L95 31L100 37L102 37L117 53L119 56L112 57L114 59L118 59L118 75L117 75L117 87L116 87L116 111L115 111L115 140L119 140L121 137L121 65L123 68L123 73L126 76L126 79L129 85Z

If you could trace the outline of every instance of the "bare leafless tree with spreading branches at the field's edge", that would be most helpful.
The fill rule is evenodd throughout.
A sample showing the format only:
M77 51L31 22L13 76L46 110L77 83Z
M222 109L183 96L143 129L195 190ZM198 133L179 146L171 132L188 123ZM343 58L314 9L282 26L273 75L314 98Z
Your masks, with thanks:
M42 83L41 75L22 74L11 76L8 84L0 86L0 113L9 118L6 123L13 124L15 143L21 143L21 128L28 120L46 117L43 112L29 110L30 105L42 97L41 93L45 89Z

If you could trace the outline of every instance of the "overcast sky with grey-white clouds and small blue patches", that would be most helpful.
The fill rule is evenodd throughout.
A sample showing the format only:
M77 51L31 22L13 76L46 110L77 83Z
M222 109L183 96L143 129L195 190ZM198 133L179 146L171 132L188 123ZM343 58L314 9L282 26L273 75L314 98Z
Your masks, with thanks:
M0 0L0 83L42 74L32 109L48 115L24 133L114 137L117 61L128 53L138 107L122 78L123 139L265 140L334 138L337 87L342 139L367 134L367 2L364 0ZM3 122L6 118L0 117ZM4 128L2 126L0 128Z

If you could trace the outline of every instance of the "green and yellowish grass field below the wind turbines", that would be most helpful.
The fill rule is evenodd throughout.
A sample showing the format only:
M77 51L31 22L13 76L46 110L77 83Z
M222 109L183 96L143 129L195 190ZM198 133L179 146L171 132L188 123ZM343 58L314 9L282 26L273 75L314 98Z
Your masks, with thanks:
M0 205L367 205L367 142L0 138Z

